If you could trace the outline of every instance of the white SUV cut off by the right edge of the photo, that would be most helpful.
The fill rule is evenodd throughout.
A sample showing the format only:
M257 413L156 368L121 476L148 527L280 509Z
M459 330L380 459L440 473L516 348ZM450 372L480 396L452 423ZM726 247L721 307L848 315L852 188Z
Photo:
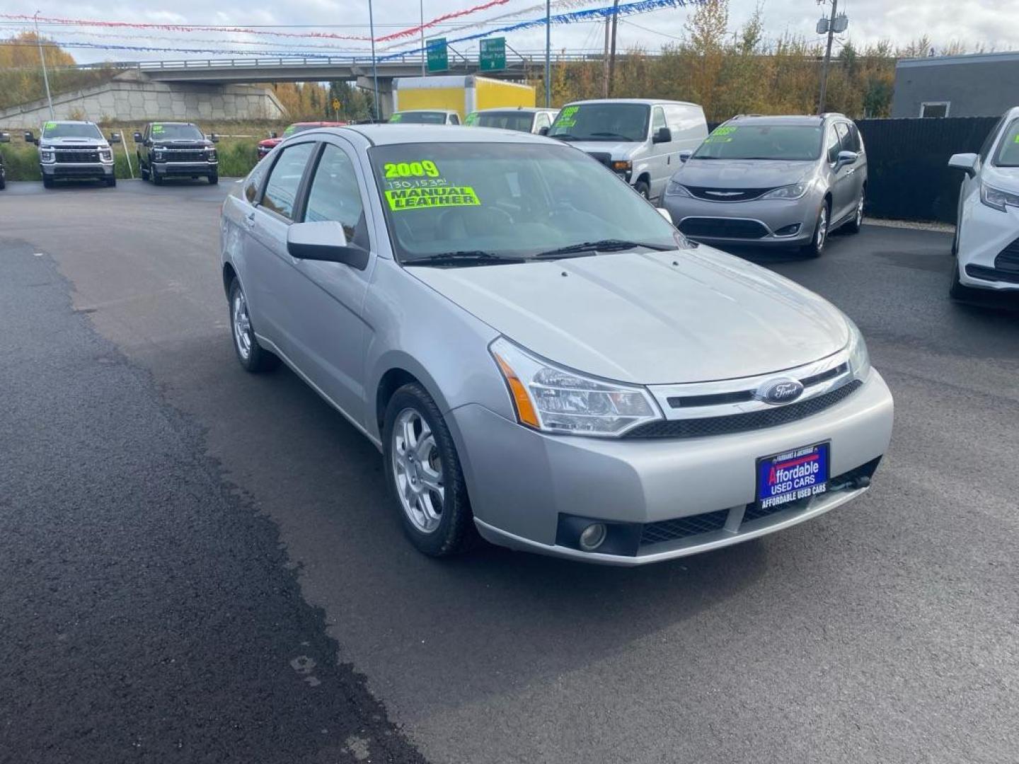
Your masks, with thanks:
M972 299L983 289L1019 293L1019 107L1005 113L979 154L956 154L949 166L966 171L952 297Z

